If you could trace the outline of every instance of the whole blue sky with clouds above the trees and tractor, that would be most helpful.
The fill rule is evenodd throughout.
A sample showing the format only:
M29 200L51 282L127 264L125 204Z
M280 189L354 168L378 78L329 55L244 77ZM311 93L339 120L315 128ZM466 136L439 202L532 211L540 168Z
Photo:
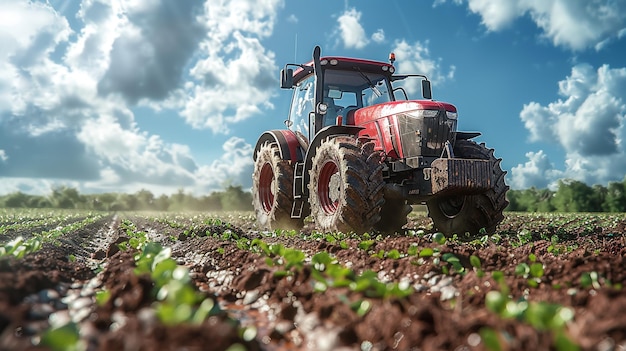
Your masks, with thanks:
M626 175L623 0L2 0L0 194L250 189L315 45L428 75L512 189Z

